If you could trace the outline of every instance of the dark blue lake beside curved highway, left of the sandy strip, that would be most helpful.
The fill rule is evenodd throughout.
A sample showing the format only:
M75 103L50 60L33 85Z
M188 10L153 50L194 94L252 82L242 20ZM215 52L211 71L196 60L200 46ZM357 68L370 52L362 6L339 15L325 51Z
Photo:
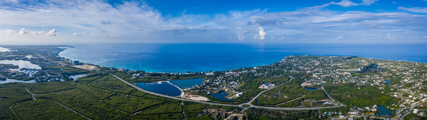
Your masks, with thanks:
M158 82L135 82L136 86L147 91L169 95L169 96L179 96L181 95L181 90L178 87L162 81Z

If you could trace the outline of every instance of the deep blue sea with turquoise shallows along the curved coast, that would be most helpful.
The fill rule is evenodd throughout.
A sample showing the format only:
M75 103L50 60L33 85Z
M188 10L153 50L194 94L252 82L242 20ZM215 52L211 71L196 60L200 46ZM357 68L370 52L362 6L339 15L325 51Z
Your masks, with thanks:
M60 56L151 72L230 70L271 64L289 55L361 56L427 62L426 43L84 43Z

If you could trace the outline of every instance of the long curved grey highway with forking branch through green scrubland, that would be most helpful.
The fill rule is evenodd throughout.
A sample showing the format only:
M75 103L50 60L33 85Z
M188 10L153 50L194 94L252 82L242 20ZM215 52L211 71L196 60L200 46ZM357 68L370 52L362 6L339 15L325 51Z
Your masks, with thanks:
M155 92L147 91L147 90L144 90L144 89L142 89L142 88L139 88L138 86L136 86L136 85L134 85L134 84L132 84L132 83L127 82L126 80L121 79L120 77L118 77L118 76L116 76L116 75L114 75L114 74L111 74L111 73L109 73L109 74L110 74L110 75L112 75L112 76L114 76L114 77L115 77L115 78L117 78L118 80L120 80L120 81L122 81L122 82L124 82L124 83L126 83L126 84L128 84L128 85L130 85L130 86L132 86L133 88L138 89L138 90L140 90L140 91L142 91L142 92L145 92L145 93L149 93L149 94L153 94L153 95L157 95L157 96L162 96L162 97L166 97L166 98L171 98L171 99L176 99L176 100L192 101L192 102L201 103L201 104L221 105L221 106L234 106L234 107L241 107L241 105L243 105L243 104L247 104L247 105L250 105L250 107L253 107L253 108L275 109L275 110L310 110L310 109L334 108L334 107L341 107L341 106L345 106L345 105L343 105L343 104L341 104L341 103L340 103L340 105L336 105L336 106L307 107L307 108L287 108L287 107L267 107L267 106L256 106L256 105L252 105L252 104L250 104L250 102L252 102L256 97L258 97L259 95L261 95L261 93L263 93L263 92L265 92L265 91L267 91L267 90L270 90L270 89L272 89L272 88L274 88L274 87L280 86L280 85L282 85L282 84L284 84L284 83L287 83L287 82L288 82L288 81L290 81L292 78L290 78L288 81L286 81L286 82L284 82L284 83L281 83L281 84L279 84L279 85L277 85L277 86L274 86L274 87L271 87L271 88L269 88L269 89L267 89L267 90L261 91L260 93L258 93L258 95L256 95L255 97L253 97L249 102L241 103L241 104L223 104L223 103L211 103L211 102L204 102L204 101L196 101L196 100L191 100L191 99L178 98L178 97L174 97L174 96L168 96L168 95L164 95L164 94L159 94L159 93L155 93ZM326 93L326 94L327 94L327 93ZM328 95L328 96L329 96L329 95ZM337 103L339 103L339 102L337 102Z

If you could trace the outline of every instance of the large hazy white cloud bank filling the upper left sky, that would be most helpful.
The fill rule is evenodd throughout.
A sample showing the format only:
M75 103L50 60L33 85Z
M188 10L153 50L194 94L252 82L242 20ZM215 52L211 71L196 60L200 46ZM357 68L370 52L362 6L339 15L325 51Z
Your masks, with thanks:
M70 33L103 30L126 35L149 35L154 29L165 30L183 26L177 22L179 21L165 22L159 11L142 1L124 1L114 5L104 0L52 0L45 3L28 1L11 5L0 4L0 25L60 26L75 30L69 30Z

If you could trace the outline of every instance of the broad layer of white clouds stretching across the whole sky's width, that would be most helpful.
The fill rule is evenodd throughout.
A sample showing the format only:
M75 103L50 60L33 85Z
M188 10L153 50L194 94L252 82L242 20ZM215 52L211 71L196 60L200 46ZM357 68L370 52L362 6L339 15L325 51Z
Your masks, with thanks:
M364 0L364 3L362 0L336 0L337 2L329 2L319 6L291 11L269 12L262 9L252 9L217 14L182 13L177 16L162 15L160 11L147 6L145 3L125 1L123 4L111 5L105 2L105 0L91 0L91 2L86 0L78 0L78 2L65 0L64 3L56 3L56 1L32 3L35 5L22 3L16 5L16 7L13 7L13 4L12 6L0 4L0 27L20 26L21 28L31 27L31 29L36 30L43 28L42 30L47 32L48 30L44 28L55 26L55 28L66 28L59 29L61 35L63 33L72 33L70 35L84 35L82 37L113 37L117 34L120 38L126 39L123 42L143 41L143 39L140 39L142 36L148 37L145 39L159 39L161 42L178 40L197 42L201 37L214 35L220 35L220 37L216 37L216 39L210 37L211 39L206 40L213 40L211 42L228 42L230 40L227 40L227 36L234 36L232 37L233 40L242 40L245 36L248 39L248 37L250 38L255 34L254 38L256 39L264 39L267 36L274 37L274 39L277 39L276 41L284 38L282 36L286 36L286 40L289 41L292 39L302 39L300 36L308 39L301 42L315 41L312 39L334 39L338 37L336 34L339 34L346 36L346 41L358 42L359 38L348 36L361 36L365 38L382 37L382 40L384 40L386 37L391 38L391 36L385 36L387 32L391 32L393 36L398 34L398 38L412 38L423 33L422 31L425 29L424 19L427 19L426 14L416 14L407 11L389 12L382 10L368 12L357 11L351 8L344 11L321 9L332 3L349 7L367 5L368 3L372 3L372 1L375 4L377 0ZM248 21L253 24L247 24ZM256 23L256 21L264 22ZM259 30L259 28L254 26L261 26L261 28L268 29ZM189 28L186 31L188 35L177 36L173 32L165 32L184 27ZM268 33L265 30L268 30ZM19 32L21 35L46 34L44 31L31 31L28 29L21 29L16 32ZM10 39L19 39L18 37L11 36ZM25 39L24 37L20 38ZM50 38L54 39L54 37ZM68 37L71 40L73 38L75 37ZM97 41L105 40L104 38L95 37L91 39ZM222 41L219 39L222 39ZM31 41L29 38L25 40ZM75 39L74 41L78 40L84 42L83 39ZM108 40L116 39L112 38ZM376 42L380 40L375 39L372 41ZM273 40L269 41L274 42Z

